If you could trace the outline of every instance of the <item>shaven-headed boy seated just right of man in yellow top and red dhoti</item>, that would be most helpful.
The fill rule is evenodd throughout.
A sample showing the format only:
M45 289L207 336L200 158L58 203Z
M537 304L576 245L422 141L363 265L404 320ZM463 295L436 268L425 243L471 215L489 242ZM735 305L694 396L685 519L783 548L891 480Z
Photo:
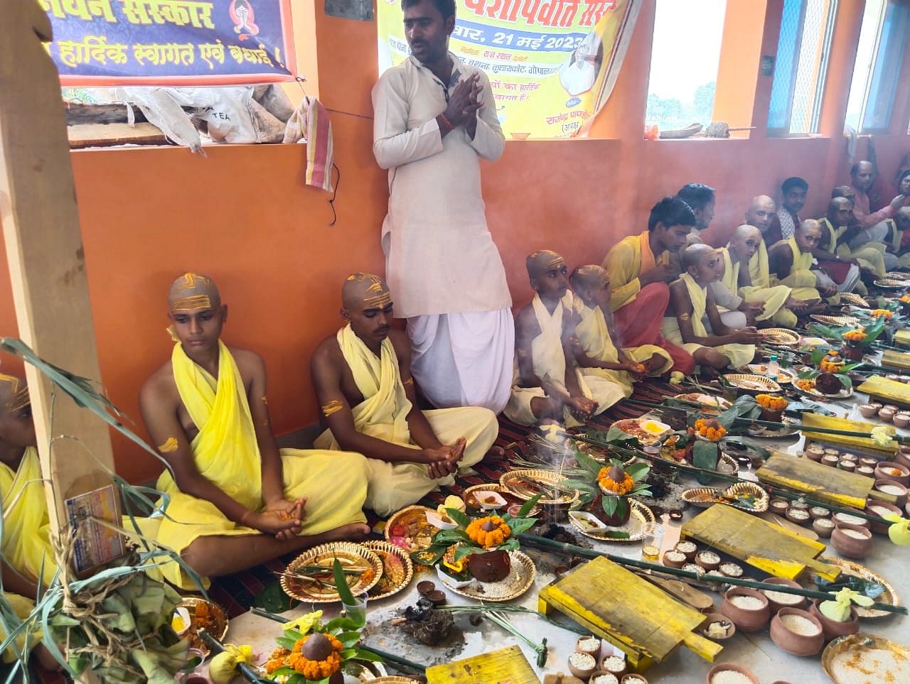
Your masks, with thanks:
M682 250L682 273L670 286L670 306L661 332L671 342L693 355L695 363L714 370L741 367L752 361L762 335L754 327L731 330L723 325L709 287L723 277L723 255L708 245L690 245ZM702 318L707 315L713 333Z

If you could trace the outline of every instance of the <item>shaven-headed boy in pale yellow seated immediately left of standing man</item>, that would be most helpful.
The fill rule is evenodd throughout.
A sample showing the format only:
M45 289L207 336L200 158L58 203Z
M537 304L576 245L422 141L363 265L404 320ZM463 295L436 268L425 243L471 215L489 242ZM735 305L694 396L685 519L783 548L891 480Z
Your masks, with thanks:
M367 508L385 517L478 463L499 423L489 408L417 407L408 338L391 329L394 306L381 278L349 276L341 299L348 325L309 362L327 428L316 446L367 455Z

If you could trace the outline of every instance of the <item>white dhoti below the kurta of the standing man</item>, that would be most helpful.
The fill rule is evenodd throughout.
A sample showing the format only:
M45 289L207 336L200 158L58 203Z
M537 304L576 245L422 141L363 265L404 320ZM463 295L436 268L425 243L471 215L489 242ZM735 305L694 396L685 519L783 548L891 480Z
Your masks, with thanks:
M408 336L411 374L433 406L506 406L515 357L509 308L410 317Z

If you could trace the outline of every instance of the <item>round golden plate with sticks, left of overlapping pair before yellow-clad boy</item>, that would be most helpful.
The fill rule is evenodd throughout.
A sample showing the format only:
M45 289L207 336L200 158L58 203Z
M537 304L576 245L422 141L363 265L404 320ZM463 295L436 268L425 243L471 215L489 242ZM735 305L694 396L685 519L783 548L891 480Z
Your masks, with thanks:
M382 577L382 560L376 553L360 544L333 541L309 548L290 561L281 573L281 588L298 601L333 603L341 600L332 575L336 559L354 595L369 591Z

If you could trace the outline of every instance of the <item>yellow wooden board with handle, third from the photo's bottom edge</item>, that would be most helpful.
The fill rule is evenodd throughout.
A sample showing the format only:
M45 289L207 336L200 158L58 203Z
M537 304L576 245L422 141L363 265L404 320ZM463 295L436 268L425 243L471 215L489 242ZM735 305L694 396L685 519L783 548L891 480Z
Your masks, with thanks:
M824 552L821 542L732 506L706 508L682 526L682 537L698 539L775 577L795 579L806 568L826 579L840 574L839 568L815 559Z

